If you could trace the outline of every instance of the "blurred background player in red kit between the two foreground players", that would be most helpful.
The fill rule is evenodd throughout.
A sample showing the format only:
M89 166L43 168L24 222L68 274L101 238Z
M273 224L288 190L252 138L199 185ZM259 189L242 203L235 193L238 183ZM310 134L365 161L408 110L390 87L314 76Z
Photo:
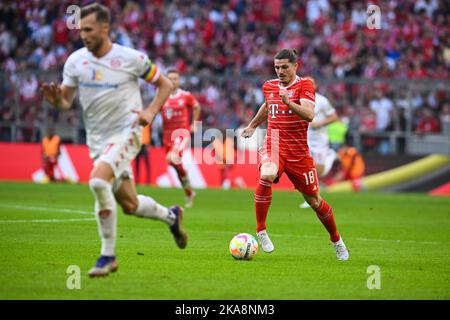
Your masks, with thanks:
M195 132L195 121L198 121L201 106L195 97L188 91L180 88L180 74L175 69L169 69L167 78L172 81L173 90L170 97L161 109L163 117L163 144L166 149L166 160L176 170L178 179L186 193L187 208L192 207L195 192L186 170L183 168L181 158L183 149L189 144L189 132ZM192 108L192 124L189 124L189 109ZM184 129L184 134L178 129Z

